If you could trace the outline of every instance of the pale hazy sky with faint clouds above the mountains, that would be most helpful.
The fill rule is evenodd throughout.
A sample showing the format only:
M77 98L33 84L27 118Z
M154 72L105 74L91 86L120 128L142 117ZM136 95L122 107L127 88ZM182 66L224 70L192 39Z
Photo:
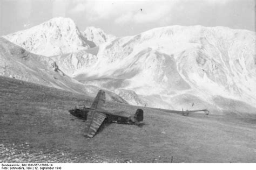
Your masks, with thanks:
M168 25L227 26L255 31L254 11L254 0L0 0L0 36L60 16L72 18L81 31L86 26L95 26L116 36Z

